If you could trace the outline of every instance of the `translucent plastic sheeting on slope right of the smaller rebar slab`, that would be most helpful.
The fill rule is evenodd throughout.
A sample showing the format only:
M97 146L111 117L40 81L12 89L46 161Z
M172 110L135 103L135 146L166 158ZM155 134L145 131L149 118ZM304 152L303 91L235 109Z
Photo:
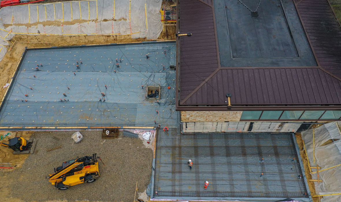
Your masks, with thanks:
M341 176L340 126L341 121L331 122L301 133L302 139L305 142L310 166L314 167L318 165L321 167L321 171L319 171L319 177L320 180L322 180L322 183L314 183L316 194L318 195L328 195L341 192L341 183L338 180L338 178ZM333 141L332 139L338 140ZM323 145L328 140L331 143ZM313 144L315 145L315 151ZM331 168L334 166L337 167ZM328 170L322 171L324 169ZM312 178L316 180L317 173L314 172L316 172L316 169L312 169ZM321 201L339 202L341 201L341 195L324 196Z

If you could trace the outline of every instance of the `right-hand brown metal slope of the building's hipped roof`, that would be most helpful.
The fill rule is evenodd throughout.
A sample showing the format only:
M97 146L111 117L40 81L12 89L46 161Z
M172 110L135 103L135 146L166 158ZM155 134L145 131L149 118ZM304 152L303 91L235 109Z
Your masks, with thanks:
M341 28L326 0L303 0L297 11L320 66L341 78Z

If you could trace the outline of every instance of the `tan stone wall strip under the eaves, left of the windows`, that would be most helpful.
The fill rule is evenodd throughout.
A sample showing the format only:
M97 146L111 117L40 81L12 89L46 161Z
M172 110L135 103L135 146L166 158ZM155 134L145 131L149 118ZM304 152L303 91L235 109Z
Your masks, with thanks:
M243 111L181 111L181 122L239 121Z

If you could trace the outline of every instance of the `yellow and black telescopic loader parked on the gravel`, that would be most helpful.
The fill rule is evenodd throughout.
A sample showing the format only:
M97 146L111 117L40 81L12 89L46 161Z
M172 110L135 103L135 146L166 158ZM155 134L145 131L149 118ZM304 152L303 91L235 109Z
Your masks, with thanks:
M92 183L99 177L97 154L65 161L55 168L55 173L49 174L49 182L59 190L81 183Z

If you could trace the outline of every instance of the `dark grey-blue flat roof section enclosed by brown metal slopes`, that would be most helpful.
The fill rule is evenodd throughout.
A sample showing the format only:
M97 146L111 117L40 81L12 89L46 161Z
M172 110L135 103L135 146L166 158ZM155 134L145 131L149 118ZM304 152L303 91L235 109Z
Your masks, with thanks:
M255 0L242 0L255 11ZM222 67L317 66L295 5L290 0L266 0L258 17L240 1L214 1Z

